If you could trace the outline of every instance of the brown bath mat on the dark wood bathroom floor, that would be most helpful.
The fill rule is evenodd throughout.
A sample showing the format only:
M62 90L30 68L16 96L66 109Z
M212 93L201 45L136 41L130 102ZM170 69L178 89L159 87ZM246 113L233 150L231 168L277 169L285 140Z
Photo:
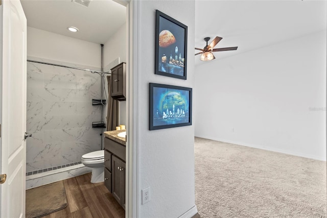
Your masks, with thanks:
M63 182L26 190L26 217L41 217L67 206Z

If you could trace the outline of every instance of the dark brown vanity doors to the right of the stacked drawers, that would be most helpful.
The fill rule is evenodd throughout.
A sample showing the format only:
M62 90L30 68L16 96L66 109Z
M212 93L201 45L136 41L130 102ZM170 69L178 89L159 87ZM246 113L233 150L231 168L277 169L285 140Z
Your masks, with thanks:
M113 197L124 207L125 205L125 163L112 156L112 184ZM125 208L125 207L124 207Z

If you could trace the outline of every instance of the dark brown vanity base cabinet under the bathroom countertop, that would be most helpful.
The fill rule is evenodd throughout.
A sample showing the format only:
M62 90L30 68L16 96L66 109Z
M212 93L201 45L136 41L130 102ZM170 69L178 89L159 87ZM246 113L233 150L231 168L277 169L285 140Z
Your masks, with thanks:
M105 138L104 148L104 184L125 209L126 146Z

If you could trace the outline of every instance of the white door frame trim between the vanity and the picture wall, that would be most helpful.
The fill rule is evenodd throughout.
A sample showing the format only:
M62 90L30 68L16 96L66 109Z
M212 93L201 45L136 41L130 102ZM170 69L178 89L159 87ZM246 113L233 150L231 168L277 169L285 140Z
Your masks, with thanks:
M1 1L1 0L0 0ZM138 63L139 63L139 2L140 0L113 0L126 6L126 209L125 217L138 217Z

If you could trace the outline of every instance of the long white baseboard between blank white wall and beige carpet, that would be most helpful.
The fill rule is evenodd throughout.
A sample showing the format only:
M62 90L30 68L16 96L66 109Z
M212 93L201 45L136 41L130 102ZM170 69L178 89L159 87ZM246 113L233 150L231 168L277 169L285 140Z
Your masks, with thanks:
M259 148L259 149L274 151L274 152L278 152L278 153L282 153L282 154L286 154L286 155L293 155L293 156L302 157L302 158L310 158L310 159L314 159L314 160L318 160L318 161L326 161L326 157L321 158L321 157L316 157L316 156L312 156L312 155L308 155L308 154L302 154L300 152L276 149L276 148L266 147L266 146L262 146L262 145L255 145L255 144L250 144L250 143L214 138L214 137L209 137L209 136L195 136L195 137L199 137L199 138L203 138L203 139L210 139L210 140L215 140L215 141L220 141L220 142L226 142L226 143L231 143L231 144L236 144L236 145L241 145L241 146L246 146L246 147Z

